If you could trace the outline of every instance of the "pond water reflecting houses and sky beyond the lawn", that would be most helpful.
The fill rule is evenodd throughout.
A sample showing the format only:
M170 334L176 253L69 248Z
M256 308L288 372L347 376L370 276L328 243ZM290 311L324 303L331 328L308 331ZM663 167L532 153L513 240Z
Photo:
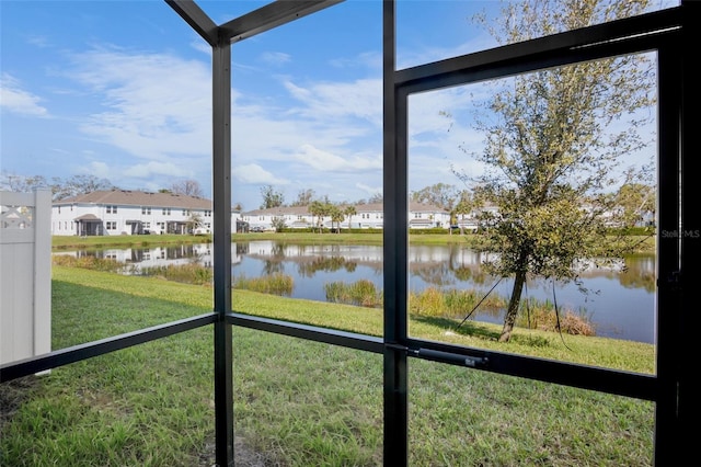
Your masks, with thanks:
M100 255L129 263L134 271L142 267L184 264L196 261L211 266L211 246L189 244L149 249L65 252L61 254ZM513 282L497 281L481 271L489 257L460 246L411 246L409 287L422 292L440 289L476 289L486 294L510 295ZM596 326L597 335L655 343L655 271L654 255L627 258L617 267L590 267L582 275L589 292L583 294L575 284L529 282L524 297L556 303L561 310L586 315ZM325 301L324 284L354 283L369 280L382 289L381 246L289 244L275 241L232 243L232 277L260 277L274 273L294 280L290 297ZM553 292L554 288L554 292ZM481 312L471 317L480 321L502 322L502 315Z

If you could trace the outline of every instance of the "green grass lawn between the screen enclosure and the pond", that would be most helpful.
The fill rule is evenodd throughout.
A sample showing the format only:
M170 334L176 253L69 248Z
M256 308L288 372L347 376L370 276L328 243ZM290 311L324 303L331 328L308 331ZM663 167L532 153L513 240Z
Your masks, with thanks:
M53 348L61 349L211 309L211 288L54 267ZM238 311L379 335L381 312L235 291ZM471 322L413 319L413 335L485 349L654 371L654 348ZM234 328L237 460L279 466L382 465L382 356ZM0 465L210 466L211 329L2 385L13 412ZM18 388L18 386L24 387ZM12 387L10 387L12 386ZM410 361L410 465L648 466L654 405L617 396Z

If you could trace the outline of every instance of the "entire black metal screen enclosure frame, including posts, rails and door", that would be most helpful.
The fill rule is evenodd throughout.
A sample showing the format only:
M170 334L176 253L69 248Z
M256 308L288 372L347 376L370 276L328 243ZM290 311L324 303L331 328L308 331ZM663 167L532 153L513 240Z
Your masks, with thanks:
M216 462L229 466L234 463L232 328L239 326L382 354L384 465L407 465L407 377L412 357L653 401L654 463L664 466L696 456L698 430L693 423L699 413L697 395L701 392L693 377L698 352L694 343L701 319L696 297L688 291L683 294L683 285L694 285L699 278L693 259L701 257L701 216L690 201L698 200L700 183L692 179L691 170L683 169L701 153L698 140L691 137L698 132L697 112L701 109L691 47L701 44L698 3L683 1L680 7L641 16L397 70L397 5L393 0L383 1L384 321L383 335L378 338L234 312L231 300L231 46L340 1L276 1L221 25L194 1L165 2L212 49L214 311L4 364L0 366L0 381L211 326ZM656 52L658 59L656 374L412 339L407 328L409 96L645 52Z

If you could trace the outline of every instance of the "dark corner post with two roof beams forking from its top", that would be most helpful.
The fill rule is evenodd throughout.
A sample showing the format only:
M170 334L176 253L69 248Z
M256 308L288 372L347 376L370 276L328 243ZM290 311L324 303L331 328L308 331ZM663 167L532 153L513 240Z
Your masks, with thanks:
M341 0L273 2L217 26L192 0L166 2L212 50L214 368L218 466L234 464L231 307L231 44Z

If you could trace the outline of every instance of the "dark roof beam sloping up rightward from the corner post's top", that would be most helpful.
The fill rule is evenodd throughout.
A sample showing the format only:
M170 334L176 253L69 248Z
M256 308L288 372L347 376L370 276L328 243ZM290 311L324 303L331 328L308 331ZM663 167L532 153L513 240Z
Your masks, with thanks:
M221 37L243 41L285 23L341 3L343 0L277 0L221 25Z

